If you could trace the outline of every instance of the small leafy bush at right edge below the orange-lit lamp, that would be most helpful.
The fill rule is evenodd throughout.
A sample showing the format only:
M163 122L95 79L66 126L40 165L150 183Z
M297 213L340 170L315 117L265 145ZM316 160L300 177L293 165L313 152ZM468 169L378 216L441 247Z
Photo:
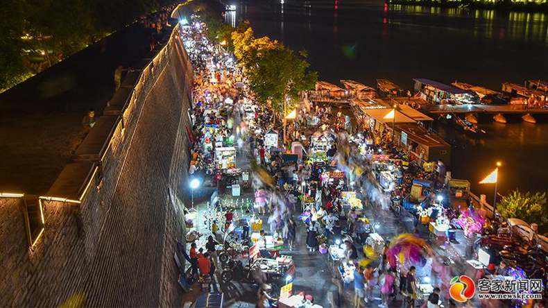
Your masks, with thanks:
M548 227L546 193L531 194L516 189L497 202L497 210L505 219L517 218L527 223L536 223L542 231Z

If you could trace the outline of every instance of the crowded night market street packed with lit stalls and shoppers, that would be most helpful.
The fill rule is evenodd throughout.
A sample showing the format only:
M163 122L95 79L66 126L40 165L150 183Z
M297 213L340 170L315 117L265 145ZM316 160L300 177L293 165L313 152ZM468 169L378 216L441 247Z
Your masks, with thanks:
M454 305L452 277L483 273L482 218L444 205L443 163L428 171L388 130L306 98L282 130L234 56L185 22L196 79L185 302L220 291L231 307Z

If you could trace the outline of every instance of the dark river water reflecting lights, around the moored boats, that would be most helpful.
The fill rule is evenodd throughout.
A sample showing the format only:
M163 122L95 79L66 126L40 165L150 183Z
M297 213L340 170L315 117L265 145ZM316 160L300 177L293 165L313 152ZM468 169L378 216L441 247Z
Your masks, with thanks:
M320 80L376 85L386 78L411 89L412 78L454 80L500 89L501 83L548 79L548 15L460 8L385 6L381 1L240 0L226 16L251 22L291 49L306 49ZM480 118L481 138L437 125L452 144L449 170L493 200L493 185L477 182L503 163L499 193L548 189L548 121L506 125Z

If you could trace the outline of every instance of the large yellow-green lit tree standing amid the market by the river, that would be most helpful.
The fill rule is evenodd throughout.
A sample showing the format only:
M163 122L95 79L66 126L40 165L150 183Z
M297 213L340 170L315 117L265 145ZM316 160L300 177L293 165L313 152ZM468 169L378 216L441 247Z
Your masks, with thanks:
M259 103L270 104L277 112L289 109L302 91L316 85L318 75L309 71L306 51L298 54L268 37L255 38L252 28L232 33L234 54L246 69L249 85Z

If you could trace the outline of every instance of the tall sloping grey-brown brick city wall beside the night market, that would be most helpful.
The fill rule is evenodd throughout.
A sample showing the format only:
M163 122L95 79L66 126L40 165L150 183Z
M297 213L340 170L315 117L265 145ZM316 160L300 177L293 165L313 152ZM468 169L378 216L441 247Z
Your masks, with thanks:
M175 31L176 28L175 28ZM175 33L175 32L174 32ZM175 306L183 240L192 69L180 35L144 69L81 204L44 201L45 231L26 243L21 200L0 198L0 307Z

